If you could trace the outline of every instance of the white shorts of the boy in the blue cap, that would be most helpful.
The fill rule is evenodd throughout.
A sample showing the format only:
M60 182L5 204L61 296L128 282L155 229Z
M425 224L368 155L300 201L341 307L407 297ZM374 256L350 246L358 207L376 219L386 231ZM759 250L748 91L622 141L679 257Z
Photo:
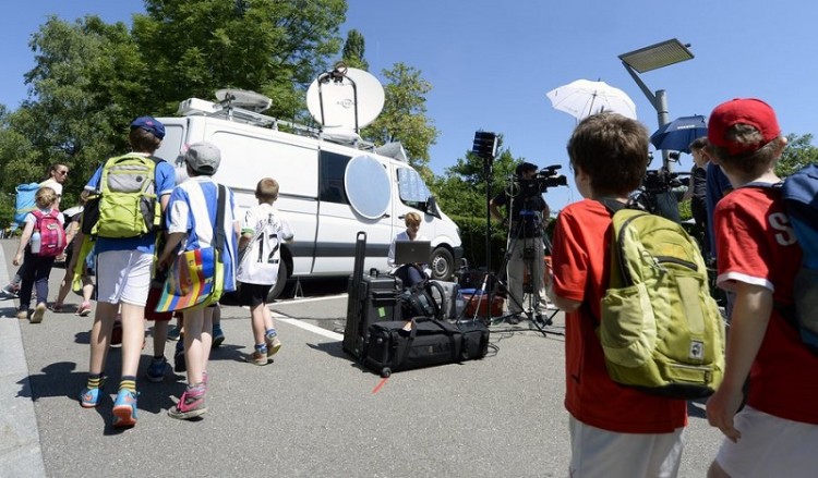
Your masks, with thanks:
M97 256L97 301L144 306L151 289L154 255L140 250L108 250Z

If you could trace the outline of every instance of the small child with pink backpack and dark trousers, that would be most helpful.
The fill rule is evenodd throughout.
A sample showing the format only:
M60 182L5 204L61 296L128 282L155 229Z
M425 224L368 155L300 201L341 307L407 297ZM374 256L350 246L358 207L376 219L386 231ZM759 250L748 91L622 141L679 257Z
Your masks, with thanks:
M40 231L39 229L45 226L45 218L52 218L56 221L51 221L48 226L60 228L60 230L62 230L65 219L63 218L62 212L56 209L57 201L58 196L52 188L43 186L37 191L37 194L35 195L37 209L25 216L23 234L20 236L17 253L12 260L14 266L20 266L23 262L26 265L26 267L23 268L23 282L20 285L19 319L28 318L28 307L32 302L32 289L36 287L37 305L34 307L34 314L32 314L31 317L32 323L41 322L43 316L48 308L48 278L51 274L51 267L53 266L57 255L49 254L46 250L40 250L41 248L46 248L45 237L49 235L49 233ZM64 237L65 233L63 231L62 247L65 246ZM59 253L61 254L62 250Z

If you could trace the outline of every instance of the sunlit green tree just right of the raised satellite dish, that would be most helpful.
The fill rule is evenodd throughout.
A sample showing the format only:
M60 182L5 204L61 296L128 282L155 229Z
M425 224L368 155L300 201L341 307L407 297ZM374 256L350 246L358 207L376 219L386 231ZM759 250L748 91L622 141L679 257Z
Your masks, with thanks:
M384 87L386 96L384 110L361 136L384 145L400 142L409 156L409 161L429 180L429 148L436 143L440 132L426 117L426 97L432 85L421 77L420 70L396 63L392 70L384 70L388 79Z

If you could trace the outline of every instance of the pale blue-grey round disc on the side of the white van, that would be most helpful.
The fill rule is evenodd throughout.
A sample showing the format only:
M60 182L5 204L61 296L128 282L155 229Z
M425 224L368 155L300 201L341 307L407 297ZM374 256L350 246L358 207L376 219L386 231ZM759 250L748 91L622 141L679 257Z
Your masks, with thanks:
M349 160L344 187L349 205L366 219L381 219L389 208L389 173L372 156L356 156Z

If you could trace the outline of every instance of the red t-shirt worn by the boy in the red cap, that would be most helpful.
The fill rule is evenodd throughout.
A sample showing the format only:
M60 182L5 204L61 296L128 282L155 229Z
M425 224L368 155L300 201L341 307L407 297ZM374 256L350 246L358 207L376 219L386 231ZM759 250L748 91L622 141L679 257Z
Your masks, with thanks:
M760 285L775 303L792 304L802 253L779 193L735 189L719 201L714 215L718 284ZM777 417L818 425L818 356L775 309L750 369L747 403Z

